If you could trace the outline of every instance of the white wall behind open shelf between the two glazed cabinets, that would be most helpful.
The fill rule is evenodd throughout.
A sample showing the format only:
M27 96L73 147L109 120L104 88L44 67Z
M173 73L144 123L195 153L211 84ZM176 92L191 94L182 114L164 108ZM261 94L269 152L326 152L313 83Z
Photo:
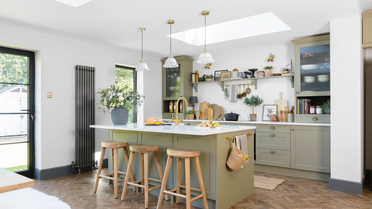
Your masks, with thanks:
M208 47L207 47L208 48ZM276 56L274 62L267 62L270 52ZM211 69L206 70L205 64L198 64L195 57L195 62L193 63L193 70L199 70L200 76L203 74L212 74L214 71L218 70L229 70L237 68L239 72L247 71L251 68L257 68L263 70L266 65L272 65L272 73L282 73L282 68L286 67L287 64L294 60L294 45L285 44L270 46L265 48L252 49L247 46L244 51L237 51L234 54L218 53L210 51L215 62L213 63ZM255 76L258 77L258 72L256 71ZM242 84L250 83L246 81L228 81L225 84ZM264 105L273 105L274 100L279 99L279 92L283 92L283 99L288 100L289 107L294 105L294 88L291 87L291 81L289 78L272 78L272 79L262 79L257 80L257 90L254 86L251 87L251 94L259 95L264 100ZM243 92L243 86L242 92ZM246 86L247 88L247 86ZM238 99L237 102L228 102L224 100L224 92L217 83L199 84L198 92L193 89L193 96L198 97L198 102L203 101L209 102L209 104L216 103L225 107L227 113L234 112L238 114L250 114L251 107L243 104L243 99ZM250 96L249 94L247 97ZM188 98L187 98L188 99ZM195 109L199 110L199 104L195 105ZM254 113L257 113L257 120L262 120L262 106L255 107Z

